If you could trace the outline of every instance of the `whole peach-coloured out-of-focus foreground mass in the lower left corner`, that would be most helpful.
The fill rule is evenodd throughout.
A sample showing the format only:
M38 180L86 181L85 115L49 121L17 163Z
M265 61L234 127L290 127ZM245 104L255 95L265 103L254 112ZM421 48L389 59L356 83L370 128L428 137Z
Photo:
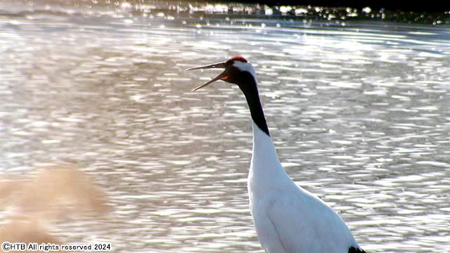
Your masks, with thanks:
M68 165L36 169L27 176L0 181L0 208L8 219L0 226L1 242L70 243L52 226L94 219L108 212L107 199L90 176ZM80 242L83 243L83 242Z

